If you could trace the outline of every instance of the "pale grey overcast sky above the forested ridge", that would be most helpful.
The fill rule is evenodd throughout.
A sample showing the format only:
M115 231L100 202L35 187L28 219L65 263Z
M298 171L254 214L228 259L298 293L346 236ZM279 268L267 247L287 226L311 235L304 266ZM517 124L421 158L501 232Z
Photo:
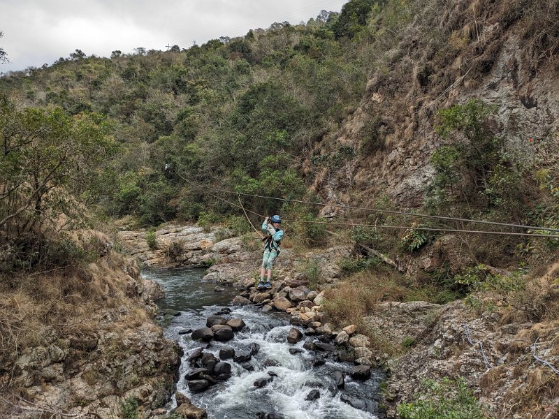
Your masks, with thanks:
M52 64L80 49L110 57L136 47L190 47L274 22L298 24L347 0L0 0L0 72Z

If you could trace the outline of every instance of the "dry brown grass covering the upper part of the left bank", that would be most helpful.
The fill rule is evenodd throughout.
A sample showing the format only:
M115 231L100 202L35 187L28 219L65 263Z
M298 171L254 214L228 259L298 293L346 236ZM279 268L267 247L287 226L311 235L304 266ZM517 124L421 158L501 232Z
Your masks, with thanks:
M0 278L0 376L17 376L15 361L22 352L48 346L53 336L80 342L101 329L143 325L148 315L138 309L138 283L124 274L125 265L110 252L89 265ZM10 379L1 383L10 384Z

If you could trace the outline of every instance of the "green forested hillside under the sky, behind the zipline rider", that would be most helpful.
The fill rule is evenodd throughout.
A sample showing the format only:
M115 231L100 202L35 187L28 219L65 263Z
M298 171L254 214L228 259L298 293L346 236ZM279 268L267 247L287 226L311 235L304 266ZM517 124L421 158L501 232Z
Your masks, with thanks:
M110 59L76 50L2 84L46 119L95 115L112 127L116 149L90 179L90 203L111 216L134 214L143 225L196 221L201 211L231 208L208 202L182 177L263 195L305 194L302 156L363 95L370 57L358 47L367 42L371 8L359 1L342 15L324 11L307 24L273 24L187 50L140 47ZM20 112L9 119L27 123Z

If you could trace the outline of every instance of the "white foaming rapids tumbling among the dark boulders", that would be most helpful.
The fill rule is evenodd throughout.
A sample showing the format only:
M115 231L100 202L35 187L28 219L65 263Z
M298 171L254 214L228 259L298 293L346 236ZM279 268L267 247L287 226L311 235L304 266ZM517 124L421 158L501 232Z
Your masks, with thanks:
M208 307L208 313L211 314L211 310L215 310L215 307ZM285 325L284 321L263 315L255 311L254 307L234 309L230 316L242 318L247 328L236 332L233 341L212 341L211 346L203 351L219 358L219 350L225 346L234 347L236 354L240 355L247 353L250 345L259 344L258 353L247 362L254 367L252 372L233 360L224 360L231 364L231 378L206 392L194 394L189 390L184 374L191 369L186 359L200 344L191 341L189 337L180 338L184 357L180 366L177 392L182 392L194 404L206 409L209 418L254 418L256 411L276 412L290 419L377 418L371 413L355 409L342 402L340 392L335 392L331 372L348 372L351 365L329 359L326 367L313 368L312 360L321 356L319 353L305 351L304 339L297 344L287 343L286 336L289 330L298 327ZM303 351L292 355L289 352L290 348L300 348ZM272 364L276 365L266 367L263 365L266 360L272 360ZM271 381L263 388L256 388L254 382L259 378L270 378L268 372L272 372L275 376L272 376ZM346 381L346 390L356 389L360 385L360 383L348 382L349 379ZM313 389L319 390L319 399L306 400ZM174 405L176 406L175 403Z

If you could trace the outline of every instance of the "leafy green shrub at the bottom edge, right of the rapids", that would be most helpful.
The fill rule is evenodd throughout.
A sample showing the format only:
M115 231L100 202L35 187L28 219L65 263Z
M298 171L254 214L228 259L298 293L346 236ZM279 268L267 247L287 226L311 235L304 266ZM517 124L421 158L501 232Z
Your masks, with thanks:
M423 381L424 392L412 403L398 405L402 419L484 419L484 409L461 378Z

